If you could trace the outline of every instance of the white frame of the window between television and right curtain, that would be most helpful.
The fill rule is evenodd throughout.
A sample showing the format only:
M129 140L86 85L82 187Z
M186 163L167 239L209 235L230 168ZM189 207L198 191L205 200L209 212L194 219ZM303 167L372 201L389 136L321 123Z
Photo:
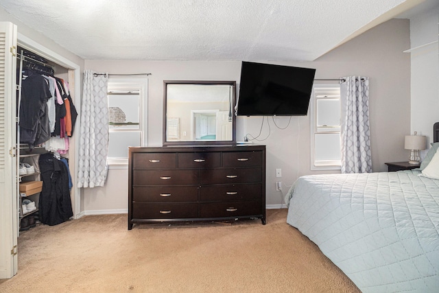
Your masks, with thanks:
M342 165L341 161L338 160L327 160L327 161L317 161L316 160L316 134L340 134L341 135L341 128L342 128L342 101L340 98L340 127L334 127L334 126L327 126L327 130L324 130L324 127L318 127L317 125L317 102L318 99L316 97L316 90L315 89L325 89L327 88L329 91L331 89L339 89L340 90L340 84L314 84L312 93L311 93L311 100L310 100L310 140L311 140L311 156L310 156L310 167L311 171L322 171L322 170L341 170ZM334 99L335 97L328 97L328 99ZM338 128L338 129L337 129ZM340 146L341 148L341 146ZM341 155L341 150L340 150Z

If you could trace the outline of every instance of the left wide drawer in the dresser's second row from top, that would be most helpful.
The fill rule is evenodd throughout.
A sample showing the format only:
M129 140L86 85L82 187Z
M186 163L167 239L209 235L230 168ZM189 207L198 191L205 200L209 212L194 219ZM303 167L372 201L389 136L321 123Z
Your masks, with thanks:
M132 173L134 186L198 184L198 170L134 170Z

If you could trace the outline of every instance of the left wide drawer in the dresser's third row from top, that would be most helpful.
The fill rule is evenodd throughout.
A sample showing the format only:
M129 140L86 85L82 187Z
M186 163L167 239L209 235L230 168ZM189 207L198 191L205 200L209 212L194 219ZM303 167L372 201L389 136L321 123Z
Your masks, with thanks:
M134 202L196 202L198 187L133 187L132 200Z

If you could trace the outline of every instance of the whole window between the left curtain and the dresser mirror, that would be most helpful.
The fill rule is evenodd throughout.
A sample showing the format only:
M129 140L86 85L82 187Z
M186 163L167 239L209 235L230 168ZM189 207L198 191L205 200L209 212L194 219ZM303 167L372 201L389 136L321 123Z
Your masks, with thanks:
M108 164L128 164L128 147L146 145L146 79L108 80Z

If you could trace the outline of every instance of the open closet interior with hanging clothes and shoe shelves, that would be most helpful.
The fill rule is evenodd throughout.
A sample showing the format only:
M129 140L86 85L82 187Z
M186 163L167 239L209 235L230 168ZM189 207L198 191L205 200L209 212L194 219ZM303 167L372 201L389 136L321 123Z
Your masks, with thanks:
M78 112L67 69L21 47L16 68L17 204L19 231L27 231L73 216L69 149Z

